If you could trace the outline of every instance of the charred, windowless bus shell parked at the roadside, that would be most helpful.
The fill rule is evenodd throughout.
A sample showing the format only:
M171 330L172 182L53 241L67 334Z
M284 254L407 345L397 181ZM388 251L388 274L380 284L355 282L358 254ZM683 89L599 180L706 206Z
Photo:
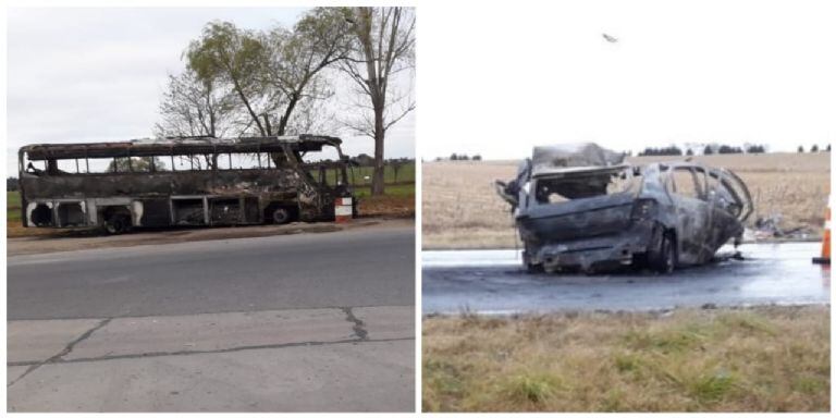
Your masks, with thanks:
M25 146L19 152L23 225L103 226L116 234L333 220L337 199L356 208L341 143L298 135ZM305 161L323 148L336 159Z

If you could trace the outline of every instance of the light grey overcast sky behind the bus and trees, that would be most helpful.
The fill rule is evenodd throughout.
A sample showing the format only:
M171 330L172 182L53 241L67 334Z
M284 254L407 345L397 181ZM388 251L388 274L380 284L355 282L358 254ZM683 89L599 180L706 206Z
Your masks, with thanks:
M7 172L26 144L151 136L168 74L184 67L189 40L207 22L261 29L292 26L304 9L9 9ZM342 91L351 95L349 91ZM346 99L345 102L351 100ZM415 118L389 132L386 157L415 156ZM344 151L373 152L367 137Z

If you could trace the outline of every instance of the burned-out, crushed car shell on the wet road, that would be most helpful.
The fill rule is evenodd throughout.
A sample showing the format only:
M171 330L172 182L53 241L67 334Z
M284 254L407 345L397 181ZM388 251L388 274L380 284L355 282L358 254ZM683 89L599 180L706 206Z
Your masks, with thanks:
M496 181L511 205L529 271L708 262L743 234L752 213L733 172L689 161L634 167L595 144L536 147L517 177Z

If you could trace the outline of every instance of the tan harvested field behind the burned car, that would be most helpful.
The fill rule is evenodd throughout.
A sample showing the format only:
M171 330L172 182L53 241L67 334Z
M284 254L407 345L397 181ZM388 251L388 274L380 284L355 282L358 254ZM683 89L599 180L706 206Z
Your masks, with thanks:
M637 157L634 163L669 160ZM735 171L749 186L755 212L779 216L780 226L804 226L821 234L831 189L831 155L765 153L694 157L696 161ZM442 248L513 248L517 244L509 207L493 181L516 175L517 161L441 161L422 165L422 246Z

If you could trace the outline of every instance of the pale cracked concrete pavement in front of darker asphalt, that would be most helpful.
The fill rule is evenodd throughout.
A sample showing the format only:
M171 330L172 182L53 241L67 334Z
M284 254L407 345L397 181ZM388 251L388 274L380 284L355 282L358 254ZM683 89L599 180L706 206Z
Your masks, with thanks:
M411 411L414 315L393 306L11 321L8 409Z

